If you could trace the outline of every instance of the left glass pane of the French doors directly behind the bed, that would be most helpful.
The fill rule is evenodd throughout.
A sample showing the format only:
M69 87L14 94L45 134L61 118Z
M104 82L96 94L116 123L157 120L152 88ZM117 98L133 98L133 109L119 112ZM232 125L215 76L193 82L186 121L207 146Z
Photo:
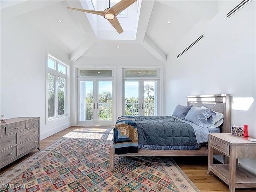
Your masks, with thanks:
M125 82L125 115L139 115L139 82Z

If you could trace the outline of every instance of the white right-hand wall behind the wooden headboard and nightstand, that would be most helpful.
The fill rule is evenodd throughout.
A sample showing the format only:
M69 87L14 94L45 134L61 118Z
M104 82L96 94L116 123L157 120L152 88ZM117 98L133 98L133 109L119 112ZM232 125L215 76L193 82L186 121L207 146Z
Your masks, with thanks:
M231 125L248 124L248 133L256 138L256 17L255 1L226 20L226 14L238 1L219 1L219 13L212 20L201 20L168 55L166 63L166 115L177 104L186 105L186 96L231 94L252 97L250 108L234 110ZM176 56L204 33L204 38L178 59ZM239 163L256 173L256 159Z

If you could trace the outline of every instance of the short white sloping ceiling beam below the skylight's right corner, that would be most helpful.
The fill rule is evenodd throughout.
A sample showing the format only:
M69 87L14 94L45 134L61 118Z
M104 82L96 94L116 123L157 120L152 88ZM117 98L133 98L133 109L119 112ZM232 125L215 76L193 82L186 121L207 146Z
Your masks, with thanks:
M165 62L167 60L167 55L158 46L156 46L148 36L144 37L142 46L161 62Z

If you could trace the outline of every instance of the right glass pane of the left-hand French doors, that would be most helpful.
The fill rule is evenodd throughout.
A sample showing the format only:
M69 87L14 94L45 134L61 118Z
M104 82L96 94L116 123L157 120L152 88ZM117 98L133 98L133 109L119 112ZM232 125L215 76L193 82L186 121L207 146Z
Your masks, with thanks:
M112 81L98 83L99 120L112 120Z

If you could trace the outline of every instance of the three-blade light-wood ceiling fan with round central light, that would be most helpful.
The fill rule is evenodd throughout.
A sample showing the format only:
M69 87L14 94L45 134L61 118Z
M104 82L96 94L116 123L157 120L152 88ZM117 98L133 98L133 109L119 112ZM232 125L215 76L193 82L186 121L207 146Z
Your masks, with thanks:
M76 11L82 11L86 13L92 13L92 14L104 16L104 18L106 18L110 22L110 24L112 24L112 26L116 29L116 31L120 34L124 32L124 30L122 29L116 16L120 14L120 12L128 8L128 6L130 6L134 2L136 2L136 0L121 0L114 6L112 7L109 6L109 8L106 8L104 11L78 9L78 8L72 8L72 7L67 7L67 8L76 10Z

